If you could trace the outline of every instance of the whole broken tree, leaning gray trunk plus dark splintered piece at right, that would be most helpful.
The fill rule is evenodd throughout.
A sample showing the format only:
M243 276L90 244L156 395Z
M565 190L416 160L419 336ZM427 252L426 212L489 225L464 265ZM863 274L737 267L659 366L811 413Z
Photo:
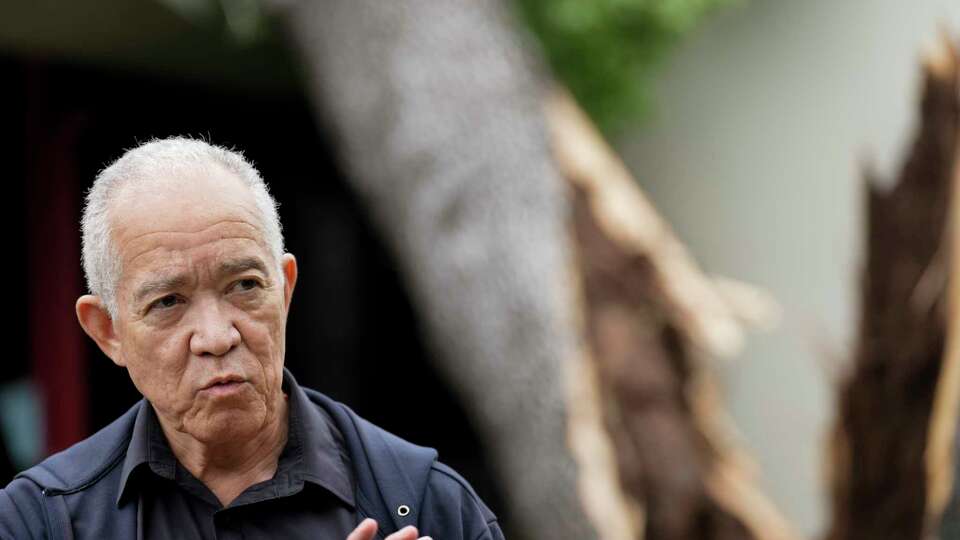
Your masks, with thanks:
M525 536L796 538L710 370L772 303L697 268L586 117L550 95L503 6L276 4ZM953 489L958 62L943 58L900 182L869 193L831 540L919 540Z

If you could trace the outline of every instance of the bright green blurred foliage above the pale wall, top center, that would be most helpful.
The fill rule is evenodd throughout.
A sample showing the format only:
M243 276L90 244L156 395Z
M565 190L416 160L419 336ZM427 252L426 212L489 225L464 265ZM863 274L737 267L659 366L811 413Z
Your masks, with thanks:
M604 131L646 112L655 68L713 8L736 0L517 0L555 75Z

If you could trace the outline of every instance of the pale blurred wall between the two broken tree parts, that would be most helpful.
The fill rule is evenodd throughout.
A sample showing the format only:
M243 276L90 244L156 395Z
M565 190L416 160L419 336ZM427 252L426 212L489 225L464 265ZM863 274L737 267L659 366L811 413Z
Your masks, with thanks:
M825 430L856 323L859 171L898 166L938 25L960 35L960 0L747 0L686 40L654 117L618 144L708 271L784 308L721 369L767 491L809 535L825 525Z

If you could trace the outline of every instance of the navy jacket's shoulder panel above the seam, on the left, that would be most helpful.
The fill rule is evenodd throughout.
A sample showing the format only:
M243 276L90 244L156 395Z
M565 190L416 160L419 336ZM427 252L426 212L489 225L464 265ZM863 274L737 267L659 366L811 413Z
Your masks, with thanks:
M123 461L142 403L138 402L103 429L23 471L17 478L28 479L41 489L66 493L95 484Z

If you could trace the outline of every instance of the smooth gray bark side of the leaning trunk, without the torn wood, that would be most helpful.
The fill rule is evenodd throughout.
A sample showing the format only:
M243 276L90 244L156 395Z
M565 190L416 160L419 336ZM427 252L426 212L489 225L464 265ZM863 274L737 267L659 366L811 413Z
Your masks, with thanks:
M279 13L515 521L530 539L589 540L566 445L563 370L579 345L567 200L504 8L325 0Z

